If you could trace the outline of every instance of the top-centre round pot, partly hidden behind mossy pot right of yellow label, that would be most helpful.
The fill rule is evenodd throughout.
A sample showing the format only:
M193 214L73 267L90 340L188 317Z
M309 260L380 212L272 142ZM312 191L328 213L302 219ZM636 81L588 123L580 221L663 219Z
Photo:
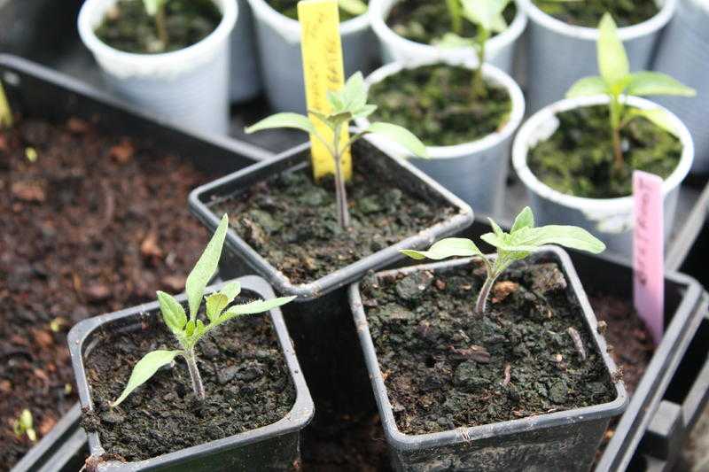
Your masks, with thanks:
M386 24L389 12L401 0L372 0L370 2L371 28L377 35L384 63L409 62L411 60L439 60L455 58L466 60L477 58L472 48L439 48L430 44L416 43L393 32ZM487 63L512 74L518 38L526 27L526 14L519 8L515 18L503 33L495 35L487 42Z

